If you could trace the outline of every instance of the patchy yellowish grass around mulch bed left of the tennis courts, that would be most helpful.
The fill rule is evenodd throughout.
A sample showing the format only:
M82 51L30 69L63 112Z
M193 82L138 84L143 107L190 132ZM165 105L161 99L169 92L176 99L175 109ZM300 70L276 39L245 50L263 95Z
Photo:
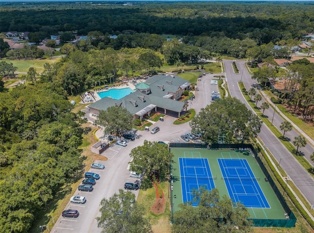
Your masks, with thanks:
M163 213L155 214L151 210L156 198L156 192L154 187L147 190L140 189L137 197L137 202L139 205L144 207L146 216L149 217L151 220L154 233L170 233L170 198L168 198L169 183L163 182L160 184L160 186L166 199L166 209Z

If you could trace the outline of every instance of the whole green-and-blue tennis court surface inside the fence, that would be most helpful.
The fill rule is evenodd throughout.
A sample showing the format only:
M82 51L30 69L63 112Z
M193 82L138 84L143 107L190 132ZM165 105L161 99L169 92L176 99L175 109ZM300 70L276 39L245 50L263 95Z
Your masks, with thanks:
M217 188L221 197L226 195L235 204L241 202L252 219L286 219L283 206L249 152L181 147L172 147L171 152L173 211L179 204L193 201L193 189L205 186Z

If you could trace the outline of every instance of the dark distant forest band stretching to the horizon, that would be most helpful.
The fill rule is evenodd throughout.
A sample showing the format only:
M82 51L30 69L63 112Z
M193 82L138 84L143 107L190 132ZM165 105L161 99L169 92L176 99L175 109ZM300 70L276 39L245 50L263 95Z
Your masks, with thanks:
M134 2L0 3L1 31L90 31L119 34L126 30L174 35L206 35L258 45L301 38L314 28L313 2ZM23 7L23 8L22 8ZM57 10L56 10L57 9Z

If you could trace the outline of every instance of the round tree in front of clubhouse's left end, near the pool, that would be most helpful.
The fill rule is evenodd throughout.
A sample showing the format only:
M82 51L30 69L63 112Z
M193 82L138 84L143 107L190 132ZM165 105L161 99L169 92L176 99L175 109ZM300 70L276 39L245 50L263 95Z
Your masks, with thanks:
M120 135L125 130L131 130L132 118L132 114L126 108L111 106L99 112L95 124L103 126L105 134Z

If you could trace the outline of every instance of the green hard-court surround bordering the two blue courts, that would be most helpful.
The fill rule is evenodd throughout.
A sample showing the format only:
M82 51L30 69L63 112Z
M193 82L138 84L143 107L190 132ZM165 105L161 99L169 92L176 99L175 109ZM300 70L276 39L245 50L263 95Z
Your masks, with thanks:
M270 208L247 208L250 213L250 218L252 219L285 219L285 210L281 206L276 194L269 185L268 182L264 180L264 174L262 169L258 165L255 158L253 158L248 152L231 150L231 149L190 149L190 148L171 148L171 152L174 154L174 162L172 163L171 172L174 177L173 183L173 196L176 195L176 198L173 198L174 210L178 210L178 205L183 202L183 193L181 186L181 175L180 175L180 165L179 158L207 158L209 161L209 168L211 175L216 177L213 180L215 187L219 190L220 196L226 195L229 196L226 183L228 181L221 180L222 172L218 164L217 159L246 159L254 176L260 178L258 184L260 185L267 202L269 203Z

